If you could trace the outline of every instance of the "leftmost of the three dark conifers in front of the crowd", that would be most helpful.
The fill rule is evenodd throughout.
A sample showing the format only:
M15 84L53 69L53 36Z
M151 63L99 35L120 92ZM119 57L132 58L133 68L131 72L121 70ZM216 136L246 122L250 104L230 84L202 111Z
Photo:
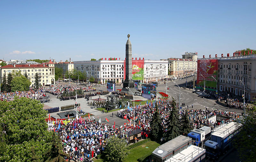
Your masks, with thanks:
M151 127L151 136L153 137L153 139L155 139L156 141L160 141L160 139L162 138L163 135L163 125L162 125L162 120L160 118L160 114L159 114L159 109L156 103L156 111L152 116L152 119L150 121L150 127Z

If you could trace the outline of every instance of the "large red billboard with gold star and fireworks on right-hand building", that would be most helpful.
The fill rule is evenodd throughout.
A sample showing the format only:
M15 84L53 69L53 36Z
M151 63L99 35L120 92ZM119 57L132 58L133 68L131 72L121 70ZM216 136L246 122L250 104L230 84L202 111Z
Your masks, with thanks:
M203 76L200 76L200 75ZM197 85L201 85L204 87L204 78L205 78L205 86L215 87L218 75L218 59L202 59L197 60ZM213 77L213 78L212 78Z

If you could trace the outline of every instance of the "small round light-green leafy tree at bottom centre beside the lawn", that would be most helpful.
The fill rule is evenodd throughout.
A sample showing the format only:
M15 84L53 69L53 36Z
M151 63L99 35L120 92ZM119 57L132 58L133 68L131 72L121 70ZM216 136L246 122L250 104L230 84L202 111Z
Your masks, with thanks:
M112 136L107 139L107 145L105 148L106 158L109 161L122 161L130 153L129 151L127 151L128 149L129 147L124 139Z

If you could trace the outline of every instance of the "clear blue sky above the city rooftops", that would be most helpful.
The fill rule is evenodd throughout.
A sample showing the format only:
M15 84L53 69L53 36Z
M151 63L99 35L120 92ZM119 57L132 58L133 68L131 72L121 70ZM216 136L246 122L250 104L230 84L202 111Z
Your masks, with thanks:
M159 60L256 49L256 1L0 1L0 59Z

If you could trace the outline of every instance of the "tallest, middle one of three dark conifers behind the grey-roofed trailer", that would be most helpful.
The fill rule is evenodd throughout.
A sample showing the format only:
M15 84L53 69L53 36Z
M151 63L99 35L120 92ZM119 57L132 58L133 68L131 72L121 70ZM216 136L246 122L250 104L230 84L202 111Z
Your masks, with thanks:
M174 99L172 100L172 110L170 112L170 116L167 120L167 131L164 133L164 140L170 141L175 137L178 137L180 135L180 121L178 119L178 111L176 109L176 102Z

